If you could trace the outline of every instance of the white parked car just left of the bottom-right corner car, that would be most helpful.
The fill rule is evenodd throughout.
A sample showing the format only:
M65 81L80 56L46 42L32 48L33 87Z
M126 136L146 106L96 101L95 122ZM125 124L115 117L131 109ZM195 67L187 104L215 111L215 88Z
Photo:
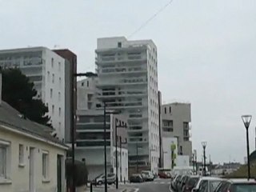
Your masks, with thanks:
M198 188L194 188L192 192L214 192L216 190L217 186L223 181L222 178L210 178L210 177L204 177L202 179L199 179L199 186ZM197 187L196 186L196 187Z

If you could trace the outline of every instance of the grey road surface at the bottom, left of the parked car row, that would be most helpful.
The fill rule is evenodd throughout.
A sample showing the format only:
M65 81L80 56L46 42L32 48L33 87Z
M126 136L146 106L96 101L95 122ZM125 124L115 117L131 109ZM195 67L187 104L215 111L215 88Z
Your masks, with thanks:
M127 191L135 192L170 192L170 179L155 179L154 182L129 183L123 185Z

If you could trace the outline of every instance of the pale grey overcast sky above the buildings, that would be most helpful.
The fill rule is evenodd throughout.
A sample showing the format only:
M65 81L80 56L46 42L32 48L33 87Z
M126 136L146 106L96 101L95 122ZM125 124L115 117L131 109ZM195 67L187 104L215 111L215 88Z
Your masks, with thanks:
M0 49L47 46L94 71L97 38L129 36L168 0L0 0ZM215 162L246 156L241 115L256 126L256 1L174 0L130 39L158 46L163 102L191 102L193 148Z

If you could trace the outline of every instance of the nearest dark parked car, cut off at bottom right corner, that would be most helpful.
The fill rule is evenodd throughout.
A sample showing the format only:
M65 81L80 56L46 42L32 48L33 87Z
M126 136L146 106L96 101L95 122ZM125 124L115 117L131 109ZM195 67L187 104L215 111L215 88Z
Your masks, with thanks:
M245 179L230 179L220 182L215 192L240 192L240 191L256 191L256 182L254 179L249 181Z

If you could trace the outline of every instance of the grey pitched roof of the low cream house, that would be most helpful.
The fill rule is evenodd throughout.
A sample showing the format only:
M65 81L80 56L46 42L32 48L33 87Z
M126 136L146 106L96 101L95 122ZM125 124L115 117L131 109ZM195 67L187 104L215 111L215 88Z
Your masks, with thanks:
M25 134L30 134L31 136L67 147L63 142L50 135L53 129L38 124L37 122L32 122L28 118L21 118L21 114L18 110L15 110L12 106L3 101L0 105L0 128L1 126L8 126L8 128L12 130L18 130Z

